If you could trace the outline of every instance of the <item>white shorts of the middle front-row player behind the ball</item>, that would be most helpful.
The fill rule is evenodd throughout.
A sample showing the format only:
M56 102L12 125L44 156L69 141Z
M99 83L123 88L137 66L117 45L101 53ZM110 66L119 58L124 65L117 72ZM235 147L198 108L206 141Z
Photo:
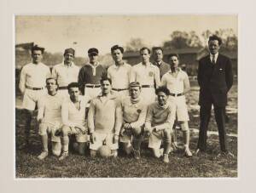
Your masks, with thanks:
M111 150L117 150L119 149L119 143L113 144L113 133L96 133L96 139L94 141L94 144L90 143L90 150L98 150L104 143L106 142L106 145L109 145Z

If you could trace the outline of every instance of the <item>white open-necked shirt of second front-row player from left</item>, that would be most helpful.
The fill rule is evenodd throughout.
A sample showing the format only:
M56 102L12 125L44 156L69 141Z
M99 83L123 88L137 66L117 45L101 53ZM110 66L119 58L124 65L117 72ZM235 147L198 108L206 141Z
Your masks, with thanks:
M88 99L81 96L79 98L80 108L77 109L69 97L63 100L61 105L61 117L63 124L69 127L75 127L77 124L84 126L87 102Z

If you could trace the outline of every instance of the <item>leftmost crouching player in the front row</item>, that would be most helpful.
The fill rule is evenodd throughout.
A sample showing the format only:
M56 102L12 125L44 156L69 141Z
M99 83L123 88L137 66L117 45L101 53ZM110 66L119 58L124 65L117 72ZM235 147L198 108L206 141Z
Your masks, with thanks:
M38 156L44 160L48 156L48 133L51 134L52 153L55 156L61 154L61 139L55 136L55 132L61 128L61 104L63 97L57 92L58 84L53 77L46 79L48 94L38 100L38 124L41 135L43 151Z

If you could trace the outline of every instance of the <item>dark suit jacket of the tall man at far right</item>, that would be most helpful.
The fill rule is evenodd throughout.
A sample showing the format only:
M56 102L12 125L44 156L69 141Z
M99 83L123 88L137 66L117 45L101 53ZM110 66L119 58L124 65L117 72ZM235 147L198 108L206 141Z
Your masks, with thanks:
M210 55L203 57L199 60L197 80L200 86L199 105L227 105L227 93L233 84L230 59L218 54L216 64L212 66Z

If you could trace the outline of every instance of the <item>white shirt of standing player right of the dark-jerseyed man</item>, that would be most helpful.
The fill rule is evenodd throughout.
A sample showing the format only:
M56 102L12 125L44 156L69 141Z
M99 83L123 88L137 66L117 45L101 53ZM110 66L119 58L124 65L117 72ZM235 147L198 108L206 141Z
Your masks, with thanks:
M131 65L111 65L108 67L108 77L113 88L129 88Z

